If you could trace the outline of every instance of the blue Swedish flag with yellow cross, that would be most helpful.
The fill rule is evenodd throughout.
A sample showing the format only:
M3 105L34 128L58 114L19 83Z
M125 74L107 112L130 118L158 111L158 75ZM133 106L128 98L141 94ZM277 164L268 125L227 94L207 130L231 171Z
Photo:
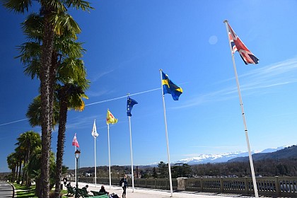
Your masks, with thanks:
M173 81L170 81L168 75L162 71L162 85L163 85L163 94L170 93L173 96L173 100L178 100L180 94L182 94L182 88L175 85Z

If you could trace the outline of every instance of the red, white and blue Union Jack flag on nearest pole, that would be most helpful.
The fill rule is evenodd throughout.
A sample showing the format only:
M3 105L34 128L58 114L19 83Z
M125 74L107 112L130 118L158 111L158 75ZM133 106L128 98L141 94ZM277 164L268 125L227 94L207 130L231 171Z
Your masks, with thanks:
M231 42L232 47L232 53L234 54L236 51L239 52L240 57L243 59L243 62L245 64L258 64L259 59L255 57L250 50L248 50L248 47L246 47L243 42L240 40L240 38L235 34L231 26L228 25L228 36L229 41Z

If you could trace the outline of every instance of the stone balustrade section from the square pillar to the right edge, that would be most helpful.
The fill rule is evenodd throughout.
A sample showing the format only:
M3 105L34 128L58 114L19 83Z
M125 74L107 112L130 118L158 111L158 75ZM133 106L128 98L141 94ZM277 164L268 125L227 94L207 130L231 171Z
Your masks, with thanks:
M297 197L297 177L257 177L260 195ZM251 177L237 178L177 178L177 190L254 194Z

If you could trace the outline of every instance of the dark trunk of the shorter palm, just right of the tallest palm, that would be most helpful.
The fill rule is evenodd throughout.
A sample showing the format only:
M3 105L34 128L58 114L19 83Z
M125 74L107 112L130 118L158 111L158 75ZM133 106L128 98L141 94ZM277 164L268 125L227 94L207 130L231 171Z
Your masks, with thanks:
M63 164L63 154L64 154L64 142L65 142L65 132L66 132L66 122L67 122L67 110L68 110L68 97L67 97L67 87L63 87L59 91L59 130L58 130L58 142L57 142L57 170L56 170L56 186L54 190L54 197L60 197L60 184L62 177L62 164Z

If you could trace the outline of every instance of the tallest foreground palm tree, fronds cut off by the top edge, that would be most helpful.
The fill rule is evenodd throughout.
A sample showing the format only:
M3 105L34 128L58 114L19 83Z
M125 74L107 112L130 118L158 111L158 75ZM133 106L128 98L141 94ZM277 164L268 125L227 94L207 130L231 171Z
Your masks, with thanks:
M28 11L32 5L32 0L15 1L1 0L8 10L16 13ZM40 59L40 93L42 101L42 197L49 197L50 185L50 140L52 133L52 111L54 100L54 78L57 71L52 64L52 54L54 50L54 35L61 35L63 30L71 27L69 23L61 23L61 15L66 12L66 8L74 7L89 11L92 7L83 0L39 0L40 14L44 16L44 29L42 34L42 55ZM73 29L72 29L73 30ZM78 32L73 32L74 35Z

